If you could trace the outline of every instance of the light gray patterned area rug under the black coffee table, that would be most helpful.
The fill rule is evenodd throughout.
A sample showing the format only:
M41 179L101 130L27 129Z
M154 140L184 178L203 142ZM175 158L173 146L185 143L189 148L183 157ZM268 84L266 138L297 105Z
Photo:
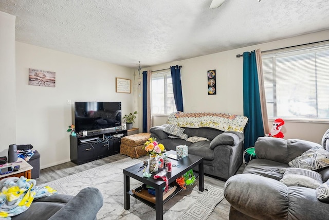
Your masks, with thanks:
M123 169L141 162L125 158L98 168L86 170L61 179L47 182L60 194L76 195L85 187L96 187L103 194L103 207L97 219L155 219L155 210L130 197L130 210L123 208ZM131 189L141 183L130 178ZM205 191L198 190L198 183L171 198L163 205L164 219L207 219L215 206L224 198L223 190L205 184Z

